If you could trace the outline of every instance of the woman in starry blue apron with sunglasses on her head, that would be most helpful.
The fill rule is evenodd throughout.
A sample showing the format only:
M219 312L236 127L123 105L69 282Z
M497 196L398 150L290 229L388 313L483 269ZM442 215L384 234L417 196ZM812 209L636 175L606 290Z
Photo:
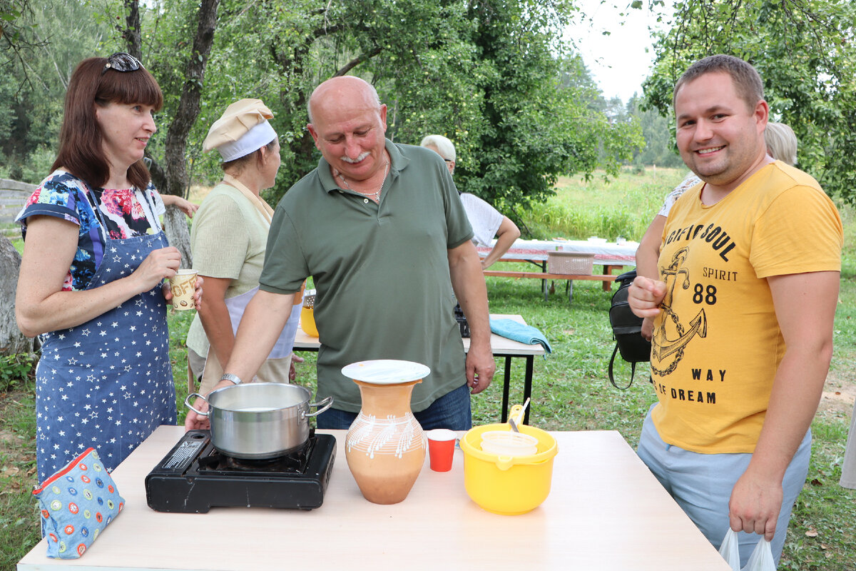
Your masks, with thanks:
M92 447L108 469L158 425L175 424L163 280L169 247L143 153L163 104L128 54L80 62L68 83L53 172L18 215L18 326L39 336L39 480ZM197 282L199 306L201 280Z

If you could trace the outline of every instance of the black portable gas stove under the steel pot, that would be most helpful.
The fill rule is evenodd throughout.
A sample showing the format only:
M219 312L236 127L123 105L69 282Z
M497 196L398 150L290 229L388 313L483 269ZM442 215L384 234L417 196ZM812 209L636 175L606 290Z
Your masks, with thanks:
M336 437L314 430L301 449L265 460L224 455L211 431L188 431L146 476L146 501L155 511L197 514L220 506L314 509L335 459Z

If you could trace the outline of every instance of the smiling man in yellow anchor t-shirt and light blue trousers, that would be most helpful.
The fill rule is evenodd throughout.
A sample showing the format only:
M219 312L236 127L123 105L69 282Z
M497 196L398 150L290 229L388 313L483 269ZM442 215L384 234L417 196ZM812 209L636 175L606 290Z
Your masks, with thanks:
M629 292L655 318L658 402L639 457L717 548L730 526L741 565L756 533L778 562L829 371L841 218L817 181L767 154L751 65L695 62L674 106L681 158L704 185L669 212L659 280Z

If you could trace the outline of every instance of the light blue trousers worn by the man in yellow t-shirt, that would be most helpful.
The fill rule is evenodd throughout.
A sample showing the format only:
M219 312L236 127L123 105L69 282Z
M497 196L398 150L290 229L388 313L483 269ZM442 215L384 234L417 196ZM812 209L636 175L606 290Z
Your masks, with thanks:
M716 549L728 531L728 499L737 479L746 472L751 454L698 454L667 444L657 433L651 420L651 410L642 425L639 437L639 458L657 477L660 484L675 498L704 537ZM785 533L794 502L802 491L811 456L811 429L806 432L800 448L785 470L782 479L782 510L776 520L776 536L770 542L776 565L782 556ZM740 532L740 565L746 565L760 536Z

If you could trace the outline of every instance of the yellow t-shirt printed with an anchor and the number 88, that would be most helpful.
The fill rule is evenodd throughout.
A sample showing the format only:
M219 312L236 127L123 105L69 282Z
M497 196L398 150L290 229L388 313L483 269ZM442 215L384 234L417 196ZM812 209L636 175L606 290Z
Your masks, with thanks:
M841 217L811 176L764 166L715 205L703 185L663 230L651 378L654 425L705 454L753 452L785 343L767 277L841 271Z

